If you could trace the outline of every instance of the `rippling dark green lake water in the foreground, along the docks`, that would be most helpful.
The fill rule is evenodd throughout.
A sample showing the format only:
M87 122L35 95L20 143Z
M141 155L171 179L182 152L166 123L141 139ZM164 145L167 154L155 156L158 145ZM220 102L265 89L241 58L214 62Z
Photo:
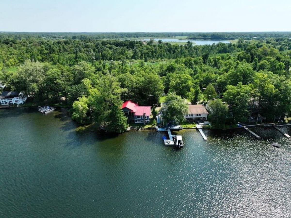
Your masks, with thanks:
M163 132L76 131L58 111L0 110L0 124L0 217L291 217L290 140L272 128L182 130L175 150Z

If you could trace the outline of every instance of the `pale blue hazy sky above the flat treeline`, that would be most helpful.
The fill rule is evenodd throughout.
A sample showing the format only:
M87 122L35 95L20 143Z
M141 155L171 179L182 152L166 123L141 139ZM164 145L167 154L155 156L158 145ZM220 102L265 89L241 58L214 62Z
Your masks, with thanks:
M0 0L0 31L291 31L290 0Z

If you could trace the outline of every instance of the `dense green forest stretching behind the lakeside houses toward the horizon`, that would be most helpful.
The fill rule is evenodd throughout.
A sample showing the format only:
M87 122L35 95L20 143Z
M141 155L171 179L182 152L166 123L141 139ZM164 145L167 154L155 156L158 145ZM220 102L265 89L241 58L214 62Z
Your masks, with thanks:
M246 122L250 102L258 103L266 122L291 113L291 39L285 35L193 46L71 34L0 34L0 81L34 102L63 97L74 120L113 132L126 128L123 101L159 105L163 93L167 101L210 101L214 126Z

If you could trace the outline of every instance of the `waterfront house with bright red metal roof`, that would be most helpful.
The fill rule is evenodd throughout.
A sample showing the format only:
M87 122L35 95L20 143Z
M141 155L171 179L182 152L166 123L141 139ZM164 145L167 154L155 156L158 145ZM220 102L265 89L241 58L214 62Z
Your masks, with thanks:
M150 106L139 106L132 101L125 101L121 109L128 117L129 122L134 123L149 123L150 122Z

